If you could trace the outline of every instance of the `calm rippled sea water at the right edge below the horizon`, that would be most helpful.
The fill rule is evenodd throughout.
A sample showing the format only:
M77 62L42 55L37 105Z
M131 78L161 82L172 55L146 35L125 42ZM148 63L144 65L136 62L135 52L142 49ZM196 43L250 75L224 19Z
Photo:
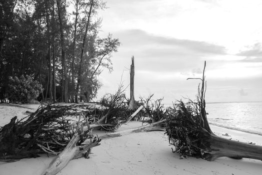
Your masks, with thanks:
M209 122L262 135L262 102L207 103Z

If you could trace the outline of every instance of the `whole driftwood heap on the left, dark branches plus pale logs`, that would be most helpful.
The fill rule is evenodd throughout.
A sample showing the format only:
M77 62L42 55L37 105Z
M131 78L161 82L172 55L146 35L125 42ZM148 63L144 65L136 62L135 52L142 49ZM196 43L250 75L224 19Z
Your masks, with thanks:
M90 148L99 145L101 138L163 130L159 126L165 120L101 137L93 136L92 129L113 130L129 122L138 113L145 113L141 110L143 105L136 111L129 110L125 100L120 86L115 94L102 98L103 105L47 104L20 120L15 116L0 128L0 161L36 157L40 153L55 154L56 158L42 174L56 174L69 160L88 158Z

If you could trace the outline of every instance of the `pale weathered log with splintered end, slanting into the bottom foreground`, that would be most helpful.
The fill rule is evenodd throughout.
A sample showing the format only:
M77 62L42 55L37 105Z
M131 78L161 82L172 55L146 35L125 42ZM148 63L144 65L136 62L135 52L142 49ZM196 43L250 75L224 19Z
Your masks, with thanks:
M80 118L80 117L79 117ZM42 175L54 175L58 173L66 164L76 158L88 157L90 148L100 145L101 138L94 137L93 140L87 140L90 130L84 132L83 125L77 127L77 131L66 145L64 150L50 163L49 167L44 170ZM83 144L78 145L79 140L86 137Z

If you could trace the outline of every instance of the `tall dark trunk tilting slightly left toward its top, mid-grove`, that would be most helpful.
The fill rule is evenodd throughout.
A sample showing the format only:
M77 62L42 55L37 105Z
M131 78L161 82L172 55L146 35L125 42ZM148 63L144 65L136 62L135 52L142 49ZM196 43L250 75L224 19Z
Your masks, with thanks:
M65 43L64 43L64 26L63 26L63 18L65 16L62 16L61 12L61 3L60 0L56 0L57 3L57 12L58 12L58 19L59 19L59 29L60 29L60 37L61 37L61 60L62 60L62 66L63 66L63 75L64 75L64 102L68 102L68 80L67 80L67 66L66 66L66 60L65 60Z

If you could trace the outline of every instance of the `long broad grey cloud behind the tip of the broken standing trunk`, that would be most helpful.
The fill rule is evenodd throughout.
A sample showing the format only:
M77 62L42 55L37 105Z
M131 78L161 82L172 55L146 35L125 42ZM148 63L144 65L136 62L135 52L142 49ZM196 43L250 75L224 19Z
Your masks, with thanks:
M136 70L153 72L198 73L204 60L226 55L226 48L204 41L150 34L141 29L114 32L121 46L117 57L135 56ZM193 72L192 72L193 71Z

